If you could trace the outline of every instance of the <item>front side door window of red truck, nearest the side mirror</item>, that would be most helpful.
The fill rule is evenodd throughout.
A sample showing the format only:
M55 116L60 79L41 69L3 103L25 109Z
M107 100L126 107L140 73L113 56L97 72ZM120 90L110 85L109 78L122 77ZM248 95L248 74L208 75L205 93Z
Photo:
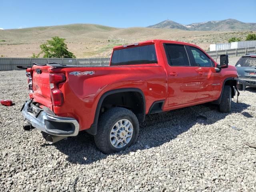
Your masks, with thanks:
M189 51L190 51L190 58L191 62L193 63L194 66L201 66L201 67L213 67L214 64L212 60L204 54L200 49L188 46Z

